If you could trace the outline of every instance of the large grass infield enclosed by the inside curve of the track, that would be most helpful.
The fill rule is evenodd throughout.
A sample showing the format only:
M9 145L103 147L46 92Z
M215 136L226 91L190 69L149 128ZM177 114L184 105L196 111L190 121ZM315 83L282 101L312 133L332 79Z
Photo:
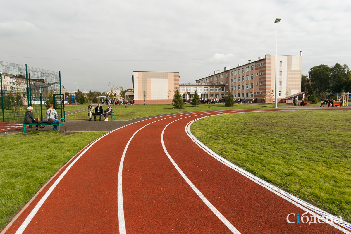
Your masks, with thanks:
M191 131L246 171L351 221L350 114L226 114L198 120Z

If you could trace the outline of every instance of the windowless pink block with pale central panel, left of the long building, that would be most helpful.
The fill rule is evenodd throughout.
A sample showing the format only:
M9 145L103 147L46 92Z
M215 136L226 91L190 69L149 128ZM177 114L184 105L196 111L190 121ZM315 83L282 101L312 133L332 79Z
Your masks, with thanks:
M179 72L133 72L132 83L135 104L171 104Z

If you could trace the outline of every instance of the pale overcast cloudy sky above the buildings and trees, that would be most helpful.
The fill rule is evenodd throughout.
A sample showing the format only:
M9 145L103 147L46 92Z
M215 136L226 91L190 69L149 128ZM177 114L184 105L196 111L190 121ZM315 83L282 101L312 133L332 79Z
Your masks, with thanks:
M281 18L279 24L274 20ZM302 73L351 65L351 1L6 0L0 61L61 71L68 91L132 88L133 71L195 82L259 56L299 55Z

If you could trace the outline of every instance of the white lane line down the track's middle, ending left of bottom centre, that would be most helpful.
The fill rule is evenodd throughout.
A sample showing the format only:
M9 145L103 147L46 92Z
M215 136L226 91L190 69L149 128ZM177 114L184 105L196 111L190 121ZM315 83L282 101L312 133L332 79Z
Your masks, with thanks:
M211 112L211 111L208 111L208 112ZM203 114L206 114L206 113L207 113L207 111L205 113L203 112L202 114L198 114L198 115L203 115ZM184 113L184 114L181 114L181 115L172 115L171 117L167 117L167 118L164 118L164 119L159 119L159 120L156 120L156 121L151 122L151 123L155 123L155 122L158 122L160 120L175 118L175 117L179 117L179 116L190 115L190 114L193 114L193 113ZM155 118L161 118L161 117L155 117ZM123 173L124 158L126 156L126 152L127 152L128 146L129 146L130 142L132 141L132 139L134 138L135 134L137 134L141 129L145 128L146 126L150 125L151 123L148 123L147 125L143 126L142 128L140 128L138 131L136 131L131 136L131 138L129 139L127 145L124 148L124 151L123 151L123 154L122 154L122 157L121 157L121 161L120 161L120 164L119 164L118 184L117 184L117 203L118 203L118 226L119 226L119 233L120 234L126 234L127 233L127 231L126 231L126 223L125 223L125 219L124 219L123 187L122 187L122 173Z

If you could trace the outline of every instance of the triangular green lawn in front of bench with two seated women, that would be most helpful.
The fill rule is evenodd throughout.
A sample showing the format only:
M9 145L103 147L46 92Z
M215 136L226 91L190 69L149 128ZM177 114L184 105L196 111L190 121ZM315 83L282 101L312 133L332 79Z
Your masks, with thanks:
M0 230L69 159L102 134L33 131L0 136Z

